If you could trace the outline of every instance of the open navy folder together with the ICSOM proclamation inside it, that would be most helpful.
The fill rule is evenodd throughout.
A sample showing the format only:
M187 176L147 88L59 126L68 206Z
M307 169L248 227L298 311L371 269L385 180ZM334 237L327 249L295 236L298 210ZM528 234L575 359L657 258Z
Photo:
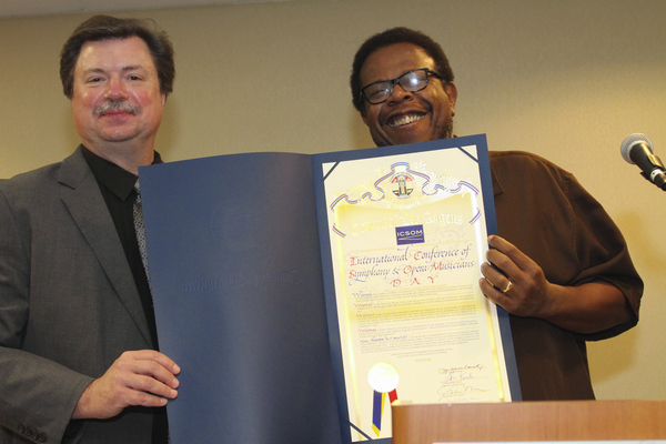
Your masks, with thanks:
M173 444L391 441L391 402L519 400L485 135L142 167Z

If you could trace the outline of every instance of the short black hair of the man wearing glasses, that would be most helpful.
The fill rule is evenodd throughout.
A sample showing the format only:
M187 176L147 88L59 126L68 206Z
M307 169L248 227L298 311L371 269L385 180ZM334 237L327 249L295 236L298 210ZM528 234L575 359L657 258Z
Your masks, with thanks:
M365 63L365 60L370 54L377 49L394 43L413 43L423 48L423 50L433 58L435 71L440 74L442 83L446 85L453 81L453 70L451 69L448 59L440 43L423 32L410 28L398 27L387 29L386 31L376 33L365 40L361 48L359 48L359 51L356 51L356 56L354 56L352 77L350 79L352 87L352 103L354 103L354 108L356 108L361 114L365 114L365 103L361 97L361 69L363 68L363 63Z

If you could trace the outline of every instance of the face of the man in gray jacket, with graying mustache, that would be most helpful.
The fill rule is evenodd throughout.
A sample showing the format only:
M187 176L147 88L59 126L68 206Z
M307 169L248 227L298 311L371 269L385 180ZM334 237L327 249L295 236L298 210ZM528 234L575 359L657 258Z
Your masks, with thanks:
M143 40L85 42L74 68L72 114L92 152L150 150L162 121L165 95Z

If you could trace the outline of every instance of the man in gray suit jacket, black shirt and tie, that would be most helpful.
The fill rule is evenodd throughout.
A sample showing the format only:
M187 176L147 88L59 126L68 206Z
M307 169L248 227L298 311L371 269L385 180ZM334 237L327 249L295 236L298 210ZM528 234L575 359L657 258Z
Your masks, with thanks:
M82 144L0 181L0 443L168 441L180 369L157 351L132 230L138 168L159 162L174 78L151 23L77 28L60 74Z

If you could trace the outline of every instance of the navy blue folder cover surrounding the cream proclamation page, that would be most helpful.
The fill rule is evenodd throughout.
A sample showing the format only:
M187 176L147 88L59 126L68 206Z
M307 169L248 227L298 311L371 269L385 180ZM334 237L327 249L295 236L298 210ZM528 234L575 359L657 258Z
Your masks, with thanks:
M332 171L322 170L465 143L480 147L473 161L490 190L481 199L487 232L495 233L485 135L140 169L160 350L182 369L179 397L168 405L173 444L391 441L359 434L347 408L325 222L324 183ZM503 311L498 317L516 401L508 319Z

